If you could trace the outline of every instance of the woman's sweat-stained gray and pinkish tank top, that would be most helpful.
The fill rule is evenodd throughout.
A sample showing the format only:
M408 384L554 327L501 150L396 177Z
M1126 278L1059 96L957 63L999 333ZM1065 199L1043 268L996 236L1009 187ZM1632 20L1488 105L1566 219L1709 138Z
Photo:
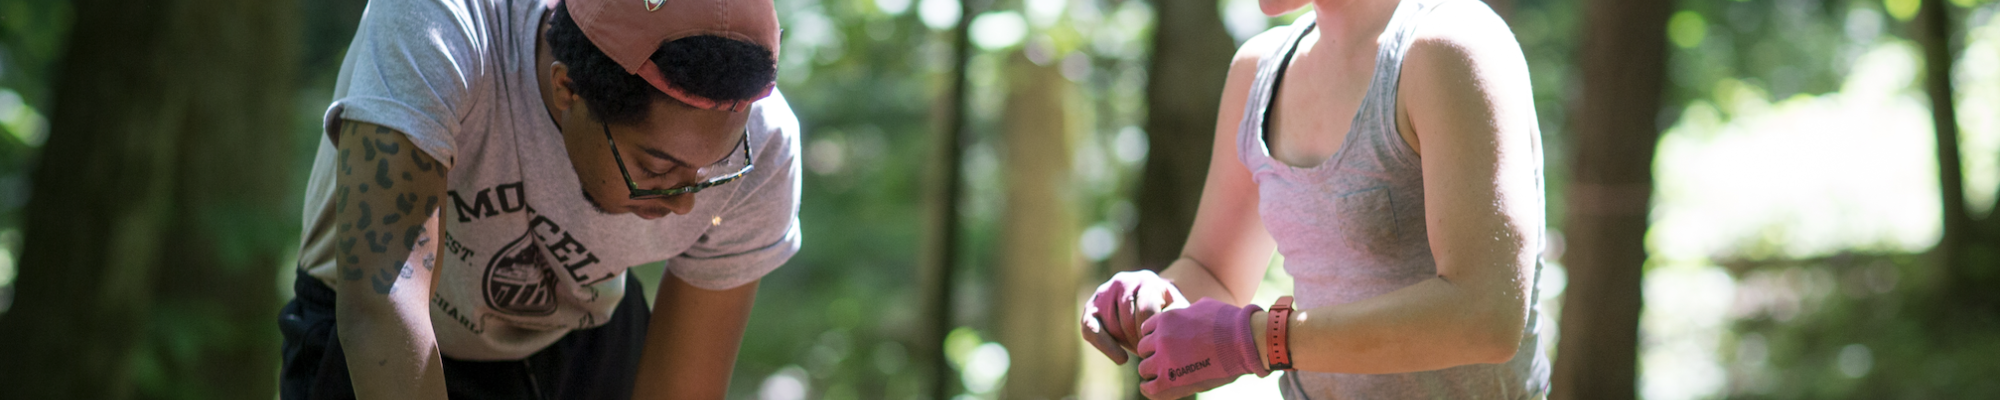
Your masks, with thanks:
M1292 50L1314 28L1314 14L1294 22L1290 40L1258 62L1236 134L1236 156L1258 186L1258 216L1278 242L1278 254L1284 254L1298 308L1358 302L1438 276L1424 226L1422 164L1396 132L1396 78L1418 24L1444 2L1450 0L1404 0L1396 6L1376 38L1374 78L1346 140L1332 158L1312 168L1274 160L1264 142L1264 120ZM1540 274L1536 258L1536 280ZM1538 296L1540 288L1530 302ZM1520 346L1504 364L1410 374L1286 372L1282 392L1286 398L1536 398L1548 390L1538 308L1530 304Z

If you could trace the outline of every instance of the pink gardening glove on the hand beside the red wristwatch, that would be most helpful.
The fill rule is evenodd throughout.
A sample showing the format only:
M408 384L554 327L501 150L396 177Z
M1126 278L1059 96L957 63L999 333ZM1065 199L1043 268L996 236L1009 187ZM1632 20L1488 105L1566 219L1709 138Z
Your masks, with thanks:
M1236 382L1236 376L1270 374L1250 328L1250 316L1260 310L1202 298L1146 320L1138 340L1138 390L1148 398L1184 398Z

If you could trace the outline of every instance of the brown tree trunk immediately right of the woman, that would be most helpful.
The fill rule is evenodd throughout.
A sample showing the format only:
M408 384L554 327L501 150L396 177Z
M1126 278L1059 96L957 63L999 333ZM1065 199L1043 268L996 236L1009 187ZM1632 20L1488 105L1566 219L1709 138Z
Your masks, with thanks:
M1652 156L1674 2L1584 4L1556 398L1634 398Z

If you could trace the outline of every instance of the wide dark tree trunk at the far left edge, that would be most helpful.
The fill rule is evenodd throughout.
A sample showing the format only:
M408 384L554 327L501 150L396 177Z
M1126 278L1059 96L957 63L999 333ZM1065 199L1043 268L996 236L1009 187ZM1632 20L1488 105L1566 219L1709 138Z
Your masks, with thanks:
M272 398L296 10L76 2L0 398Z

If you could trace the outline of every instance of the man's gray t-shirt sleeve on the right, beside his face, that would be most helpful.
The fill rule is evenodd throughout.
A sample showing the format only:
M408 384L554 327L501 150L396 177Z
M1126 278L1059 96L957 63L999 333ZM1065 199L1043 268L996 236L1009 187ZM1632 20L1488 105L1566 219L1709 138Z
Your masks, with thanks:
M752 134L752 164L742 188L734 190L720 224L708 228L692 248L666 260L666 270L706 290L726 290L764 278L798 254L798 118L782 94L756 102L762 144Z

